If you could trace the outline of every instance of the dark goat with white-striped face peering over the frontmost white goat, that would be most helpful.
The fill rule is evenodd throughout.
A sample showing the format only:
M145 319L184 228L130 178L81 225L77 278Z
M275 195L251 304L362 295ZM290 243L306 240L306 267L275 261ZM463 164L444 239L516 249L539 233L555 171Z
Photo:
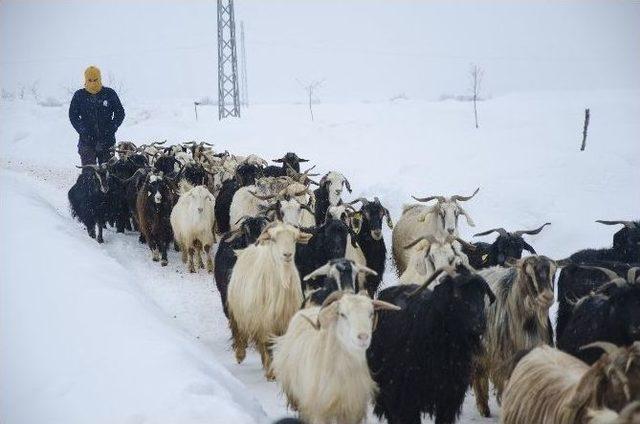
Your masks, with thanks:
M321 278L321 287L307 295L302 307L319 306L331 293L336 291L360 292L363 288L358 283L359 275L375 275L376 272L366 266L360 266L349 259L331 259L320 268L305 276L303 281Z

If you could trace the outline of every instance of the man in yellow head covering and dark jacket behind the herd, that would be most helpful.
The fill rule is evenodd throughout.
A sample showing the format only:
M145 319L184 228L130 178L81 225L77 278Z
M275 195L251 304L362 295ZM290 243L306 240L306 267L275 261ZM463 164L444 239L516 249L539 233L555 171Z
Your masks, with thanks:
M116 144L116 131L124 120L124 109L114 90L102 86L100 69L84 71L84 88L78 90L69 105L69 120L78 132L78 154L82 165L107 162L109 148Z

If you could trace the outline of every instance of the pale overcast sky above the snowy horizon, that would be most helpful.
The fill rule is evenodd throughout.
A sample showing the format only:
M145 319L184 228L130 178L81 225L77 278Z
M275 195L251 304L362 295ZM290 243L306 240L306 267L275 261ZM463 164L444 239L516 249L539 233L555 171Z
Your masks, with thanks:
M64 96L95 64L125 97L216 96L216 2L0 4L0 81L38 81ZM483 91L640 89L640 2L236 0L252 102L464 94L472 63Z

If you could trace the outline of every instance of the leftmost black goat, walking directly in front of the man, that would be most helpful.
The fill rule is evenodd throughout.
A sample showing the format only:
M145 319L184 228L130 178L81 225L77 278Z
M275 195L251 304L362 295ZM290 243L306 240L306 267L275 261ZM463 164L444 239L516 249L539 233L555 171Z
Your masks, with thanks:
M89 237L103 243L102 229L108 218L109 208L109 166L83 165L76 183L69 189L68 198L71 215L87 227ZM96 237L96 226L98 236Z

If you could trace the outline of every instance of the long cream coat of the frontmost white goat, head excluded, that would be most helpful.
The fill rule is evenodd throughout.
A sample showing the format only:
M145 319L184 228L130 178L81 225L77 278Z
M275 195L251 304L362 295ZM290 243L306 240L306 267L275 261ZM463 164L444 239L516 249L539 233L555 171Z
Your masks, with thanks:
M318 315L321 328L316 330L307 319L316 322ZM337 321L336 304L303 309L276 339L273 370L289 406L304 422L360 423L376 392L365 350L345 348L337 336Z

